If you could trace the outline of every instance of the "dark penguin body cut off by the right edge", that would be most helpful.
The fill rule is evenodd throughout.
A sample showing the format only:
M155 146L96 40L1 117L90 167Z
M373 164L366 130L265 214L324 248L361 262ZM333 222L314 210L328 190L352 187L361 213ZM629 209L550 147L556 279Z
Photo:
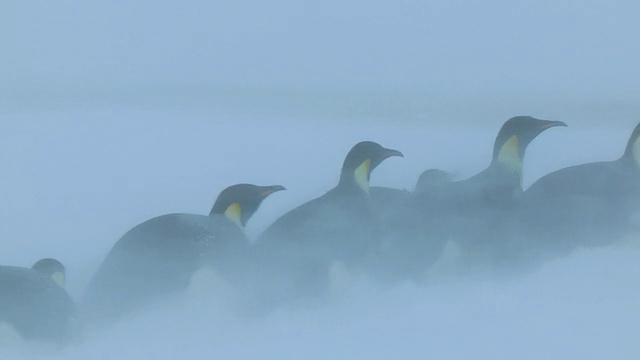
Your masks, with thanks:
M638 135L640 125L619 159L554 171L524 192L523 252L548 258L578 246L611 244L633 230L632 216L640 209Z

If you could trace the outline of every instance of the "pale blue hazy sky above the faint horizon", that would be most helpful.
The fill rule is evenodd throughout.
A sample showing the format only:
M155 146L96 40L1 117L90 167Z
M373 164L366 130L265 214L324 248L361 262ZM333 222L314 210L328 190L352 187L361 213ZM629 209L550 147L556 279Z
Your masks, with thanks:
M247 92L340 106L338 90L400 107L420 106L397 100L418 91L619 112L640 91L634 2L9 0L0 10L3 112L149 98L204 106L217 103L212 92L246 107Z

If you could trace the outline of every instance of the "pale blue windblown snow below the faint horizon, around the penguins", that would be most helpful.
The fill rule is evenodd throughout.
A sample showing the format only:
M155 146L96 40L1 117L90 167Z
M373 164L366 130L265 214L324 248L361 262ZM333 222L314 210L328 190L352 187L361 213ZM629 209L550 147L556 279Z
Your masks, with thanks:
M67 264L76 298L127 229L163 213L207 213L229 184L289 188L267 199L252 219L249 235L255 237L279 214L333 186L345 152L361 139L406 156L376 169L374 184L411 188L427 167L464 177L486 166L502 123L487 119L482 130L471 130L104 109L6 119L2 263L29 265L39 257L57 257ZM596 131L578 124L548 131L529 149L527 182L565 162L615 158L633 125L620 122ZM257 320L235 315L229 287L201 274L186 301L172 308L90 332L65 349L13 341L0 354L3 359L634 358L640 354L634 335L640 320L639 255L631 241L582 250L508 281L462 281L444 273L429 286L381 290L356 280L326 306Z

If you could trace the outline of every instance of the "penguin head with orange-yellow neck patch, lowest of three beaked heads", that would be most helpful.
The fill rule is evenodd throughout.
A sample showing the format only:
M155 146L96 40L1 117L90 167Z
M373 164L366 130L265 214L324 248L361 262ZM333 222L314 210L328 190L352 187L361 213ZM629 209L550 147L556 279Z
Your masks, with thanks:
M237 184L229 186L220 192L209 215L224 215L239 228L244 229L247 221L258 210L262 200L280 190L286 189L281 185Z

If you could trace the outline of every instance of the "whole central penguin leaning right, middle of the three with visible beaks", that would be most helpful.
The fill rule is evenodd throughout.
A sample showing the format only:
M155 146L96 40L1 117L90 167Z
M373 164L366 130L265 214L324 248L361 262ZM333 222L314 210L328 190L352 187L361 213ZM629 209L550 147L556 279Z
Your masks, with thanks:
M371 172L386 158L402 156L365 141L343 163L340 181L324 195L277 219L259 237L255 252L263 264L274 302L318 299L328 290L329 269L363 264L378 245L379 221L369 198ZM263 296L264 298L265 296Z

